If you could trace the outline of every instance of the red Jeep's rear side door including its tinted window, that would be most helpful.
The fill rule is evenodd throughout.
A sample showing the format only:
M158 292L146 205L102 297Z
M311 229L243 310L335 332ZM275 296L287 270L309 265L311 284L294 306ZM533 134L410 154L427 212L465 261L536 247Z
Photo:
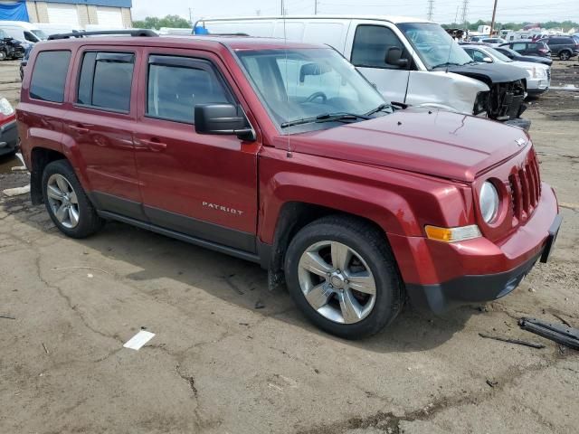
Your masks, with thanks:
M90 197L105 211L142 219L132 132L137 123L138 51L134 47L85 48L73 71L76 89L64 134L82 161ZM71 86L71 88L73 88Z

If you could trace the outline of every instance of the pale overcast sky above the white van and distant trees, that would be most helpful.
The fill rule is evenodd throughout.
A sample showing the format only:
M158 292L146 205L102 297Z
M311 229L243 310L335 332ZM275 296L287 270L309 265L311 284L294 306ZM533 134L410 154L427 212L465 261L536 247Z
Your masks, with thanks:
M432 0L433 21L452 23L460 17L464 0ZM490 20L494 0L470 0L467 20ZM209 16L278 15L280 0L133 0L133 19L146 16L181 15L193 20ZM286 13L314 14L315 0L285 0ZM318 14L393 14L427 17L429 0L318 0ZM457 9L458 7L458 9ZM458 14L457 14L458 11ZM497 21L579 22L579 0L498 0Z

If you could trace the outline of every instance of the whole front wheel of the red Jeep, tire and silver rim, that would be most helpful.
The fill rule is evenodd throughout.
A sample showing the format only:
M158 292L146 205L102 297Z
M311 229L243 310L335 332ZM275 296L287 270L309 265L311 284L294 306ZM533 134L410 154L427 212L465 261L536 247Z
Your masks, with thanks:
M403 307L384 232L356 218L329 216L304 227L289 244L285 272L300 310L332 335L374 335Z

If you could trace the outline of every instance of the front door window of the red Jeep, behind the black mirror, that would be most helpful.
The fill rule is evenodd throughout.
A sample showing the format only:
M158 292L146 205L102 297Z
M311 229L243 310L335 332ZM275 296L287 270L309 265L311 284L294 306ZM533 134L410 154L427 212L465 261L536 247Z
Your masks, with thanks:
M233 101L207 61L154 55L148 63L147 116L193 124L195 105Z

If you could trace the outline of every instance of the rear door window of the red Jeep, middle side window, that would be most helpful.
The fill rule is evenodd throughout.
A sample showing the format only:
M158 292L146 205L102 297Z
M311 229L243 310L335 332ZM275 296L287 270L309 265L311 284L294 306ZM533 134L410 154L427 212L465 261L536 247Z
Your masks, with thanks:
M127 52L85 52L77 103L128 112L135 55Z

